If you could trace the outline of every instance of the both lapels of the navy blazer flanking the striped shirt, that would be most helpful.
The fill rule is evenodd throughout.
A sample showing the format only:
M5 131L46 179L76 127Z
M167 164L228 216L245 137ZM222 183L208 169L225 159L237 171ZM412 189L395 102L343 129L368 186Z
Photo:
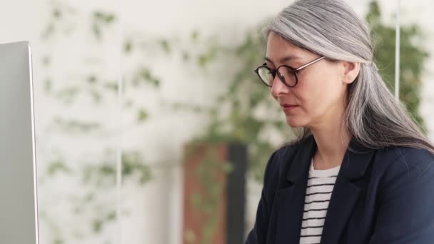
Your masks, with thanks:
M308 171L315 150L316 142L313 136L301 142L286 176L291 183L276 190L276 243L300 241ZM352 181L365 174L373 152L374 150L361 146L355 138L350 140L330 198L321 244L339 243L345 223L350 218L361 191Z

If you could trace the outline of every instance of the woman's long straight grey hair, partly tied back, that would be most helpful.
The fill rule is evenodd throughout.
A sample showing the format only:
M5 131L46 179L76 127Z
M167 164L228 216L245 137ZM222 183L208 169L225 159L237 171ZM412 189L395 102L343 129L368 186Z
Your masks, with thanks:
M343 129L363 146L404 146L434 153L433 144L378 73L368 24L344 1L295 1L266 26L266 36L271 31L327 59L360 63L358 77L348 86ZM302 128L296 142L309 135L311 131Z

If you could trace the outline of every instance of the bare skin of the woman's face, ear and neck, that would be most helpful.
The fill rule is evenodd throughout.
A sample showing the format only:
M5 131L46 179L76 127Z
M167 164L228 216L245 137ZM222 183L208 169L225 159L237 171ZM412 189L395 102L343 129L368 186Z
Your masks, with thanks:
M298 48L271 32L268 36L266 65L277 68L286 64L298 68L318 59L318 54ZM278 103L296 105L291 110L283 110L286 123L293 128L311 129L317 144L313 156L313 167L318 170L340 166L350 136L343 130L348 85L358 76L360 63L348 61L328 61L323 59L298 71L298 84L290 88L276 76L271 95Z

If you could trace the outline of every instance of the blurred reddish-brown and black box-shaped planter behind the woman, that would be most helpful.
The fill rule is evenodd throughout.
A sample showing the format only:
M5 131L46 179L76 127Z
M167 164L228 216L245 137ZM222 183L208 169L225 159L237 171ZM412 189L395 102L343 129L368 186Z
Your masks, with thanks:
M246 146L191 143L183 162L183 243L243 243Z

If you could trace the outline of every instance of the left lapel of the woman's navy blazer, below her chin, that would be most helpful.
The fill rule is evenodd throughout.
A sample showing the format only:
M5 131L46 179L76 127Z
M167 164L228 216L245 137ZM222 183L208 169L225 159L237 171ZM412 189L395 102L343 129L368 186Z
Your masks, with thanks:
M289 186L276 190L276 243L299 243L304 198L311 157L316 149L313 136L306 138L291 162Z

